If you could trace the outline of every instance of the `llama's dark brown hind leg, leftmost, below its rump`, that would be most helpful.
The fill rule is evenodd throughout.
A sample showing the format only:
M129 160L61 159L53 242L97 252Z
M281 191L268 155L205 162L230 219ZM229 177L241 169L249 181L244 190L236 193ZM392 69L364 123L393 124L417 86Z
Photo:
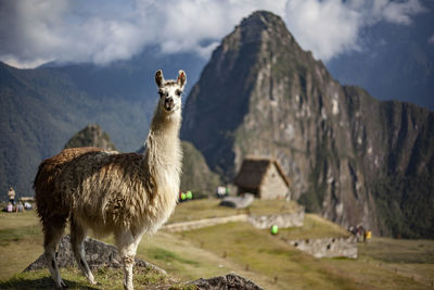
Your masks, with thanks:
M55 250L65 230L66 218L54 217L43 223L43 256L56 288L66 287L59 273Z

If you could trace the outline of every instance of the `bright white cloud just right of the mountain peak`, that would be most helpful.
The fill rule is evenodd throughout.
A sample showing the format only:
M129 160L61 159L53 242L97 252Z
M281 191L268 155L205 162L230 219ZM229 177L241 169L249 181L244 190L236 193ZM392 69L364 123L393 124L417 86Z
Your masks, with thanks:
M289 0L285 22L304 49L328 61L361 49L363 27L381 21L410 25L413 15L425 11L419 0Z

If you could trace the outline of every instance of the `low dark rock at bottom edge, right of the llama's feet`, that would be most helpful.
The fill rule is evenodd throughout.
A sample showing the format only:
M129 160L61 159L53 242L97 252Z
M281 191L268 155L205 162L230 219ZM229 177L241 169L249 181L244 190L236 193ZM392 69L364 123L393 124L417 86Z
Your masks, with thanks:
M189 282L189 285L194 285L199 289L204 289L204 290L220 290L220 289L264 290L264 288L261 288L260 286L237 274L228 274L226 276L217 276L209 279L201 278L195 281Z

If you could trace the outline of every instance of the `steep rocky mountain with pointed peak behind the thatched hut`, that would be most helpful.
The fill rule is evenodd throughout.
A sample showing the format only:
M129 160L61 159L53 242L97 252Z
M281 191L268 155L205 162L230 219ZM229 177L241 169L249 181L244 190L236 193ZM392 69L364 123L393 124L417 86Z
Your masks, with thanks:
M181 135L226 181L247 154L277 157L308 210L383 235L432 237L433 118L342 87L280 17L255 12L214 51L187 101ZM413 185L413 196L406 186L393 191L391 178L414 180L414 171L427 180ZM421 197L423 209L413 202Z

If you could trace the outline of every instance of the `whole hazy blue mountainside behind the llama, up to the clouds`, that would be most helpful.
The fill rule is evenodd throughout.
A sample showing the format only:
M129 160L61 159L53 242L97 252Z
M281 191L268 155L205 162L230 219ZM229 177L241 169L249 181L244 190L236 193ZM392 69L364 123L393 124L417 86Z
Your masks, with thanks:
M168 56L156 48L106 66L49 63L17 70L0 62L0 199L10 186L18 197L31 196L39 163L89 123L100 124L118 150L136 150L158 98L155 72L162 68L171 78L186 70L186 98L202 64L192 53Z

